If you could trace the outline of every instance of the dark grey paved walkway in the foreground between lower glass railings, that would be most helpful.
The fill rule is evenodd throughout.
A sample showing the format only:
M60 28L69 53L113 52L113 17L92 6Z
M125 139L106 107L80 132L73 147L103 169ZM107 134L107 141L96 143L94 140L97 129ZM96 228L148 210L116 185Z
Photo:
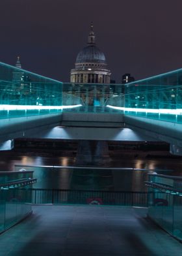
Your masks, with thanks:
M182 244L142 208L33 206L34 213L0 235L0 256L181 256Z

